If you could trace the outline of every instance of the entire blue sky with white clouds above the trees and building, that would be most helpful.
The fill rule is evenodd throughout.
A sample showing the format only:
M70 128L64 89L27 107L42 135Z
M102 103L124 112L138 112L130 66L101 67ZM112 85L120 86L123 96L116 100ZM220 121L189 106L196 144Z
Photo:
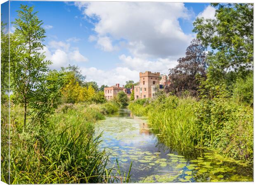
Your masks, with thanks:
M196 37L193 21L215 14L209 3L11 1L10 22L21 4L43 21L50 69L78 65L99 86L137 82L139 72L168 74Z

